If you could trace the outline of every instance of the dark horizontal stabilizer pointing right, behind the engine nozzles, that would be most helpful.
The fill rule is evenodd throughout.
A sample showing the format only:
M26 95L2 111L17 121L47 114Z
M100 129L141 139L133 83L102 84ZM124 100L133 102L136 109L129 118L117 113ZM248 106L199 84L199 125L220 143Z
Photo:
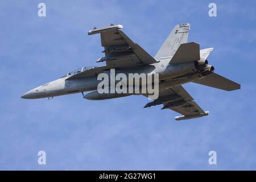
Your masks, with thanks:
M237 84L236 82L222 77L216 73L210 73L210 75L193 82L227 91L240 89L240 84Z

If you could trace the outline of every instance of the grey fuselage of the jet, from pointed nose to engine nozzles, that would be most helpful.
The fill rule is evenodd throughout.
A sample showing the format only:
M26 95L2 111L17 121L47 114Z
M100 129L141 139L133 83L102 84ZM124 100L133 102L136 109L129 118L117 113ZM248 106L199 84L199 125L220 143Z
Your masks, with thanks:
M136 68L116 68L115 71L118 73L146 73L151 75L154 73L159 74L159 89L170 88L190 82L207 74L202 74L204 70L209 73L213 71L213 67L207 67L208 63L205 62L203 67L199 67L199 61L182 63L182 64L169 64L170 59L161 60L159 63L151 65L141 65ZM103 72L108 73L110 70L105 69ZM45 97L56 97L65 94L83 93L88 91L97 90L97 86L101 80L97 79L97 75L86 76L79 78L71 78L74 74L79 74L83 70L76 73L68 73L64 77L57 80L48 82L47 84L38 86L25 94L22 98L45 98Z

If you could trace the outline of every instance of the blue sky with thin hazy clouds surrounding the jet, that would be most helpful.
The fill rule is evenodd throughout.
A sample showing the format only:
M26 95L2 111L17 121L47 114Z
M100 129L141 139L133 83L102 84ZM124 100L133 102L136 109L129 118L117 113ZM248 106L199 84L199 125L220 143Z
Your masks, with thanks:
M47 16L39 18L38 3ZM0 169L256 169L256 3L214 1L1 1ZM191 23L189 41L214 47L216 73L241 84L225 92L196 84L185 89L208 117L176 122L146 98L105 101L81 94L22 100L36 86L82 67L99 65L94 26L122 24L152 56L175 24ZM39 166L38 151L47 154ZM217 165L208 152L217 152Z

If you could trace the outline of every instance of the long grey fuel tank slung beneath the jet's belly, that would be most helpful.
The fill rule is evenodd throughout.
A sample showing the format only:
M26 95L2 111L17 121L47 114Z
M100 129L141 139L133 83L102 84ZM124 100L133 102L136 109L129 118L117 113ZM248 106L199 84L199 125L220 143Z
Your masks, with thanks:
M96 90L86 94L83 98L87 100L106 100L110 98L126 97L131 95L131 93L98 93Z

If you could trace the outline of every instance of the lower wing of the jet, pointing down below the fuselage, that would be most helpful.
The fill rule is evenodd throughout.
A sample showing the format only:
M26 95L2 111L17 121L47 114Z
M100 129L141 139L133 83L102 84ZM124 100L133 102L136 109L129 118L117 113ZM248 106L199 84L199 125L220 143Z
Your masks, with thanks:
M183 86L175 86L159 92L158 99L149 102L144 107L150 107L163 104L162 109L171 109L177 113L183 114L175 117L177 121L182 119L192 119L208 115L208 111L201 109L199 105L193 101L193 98L183 88Z

